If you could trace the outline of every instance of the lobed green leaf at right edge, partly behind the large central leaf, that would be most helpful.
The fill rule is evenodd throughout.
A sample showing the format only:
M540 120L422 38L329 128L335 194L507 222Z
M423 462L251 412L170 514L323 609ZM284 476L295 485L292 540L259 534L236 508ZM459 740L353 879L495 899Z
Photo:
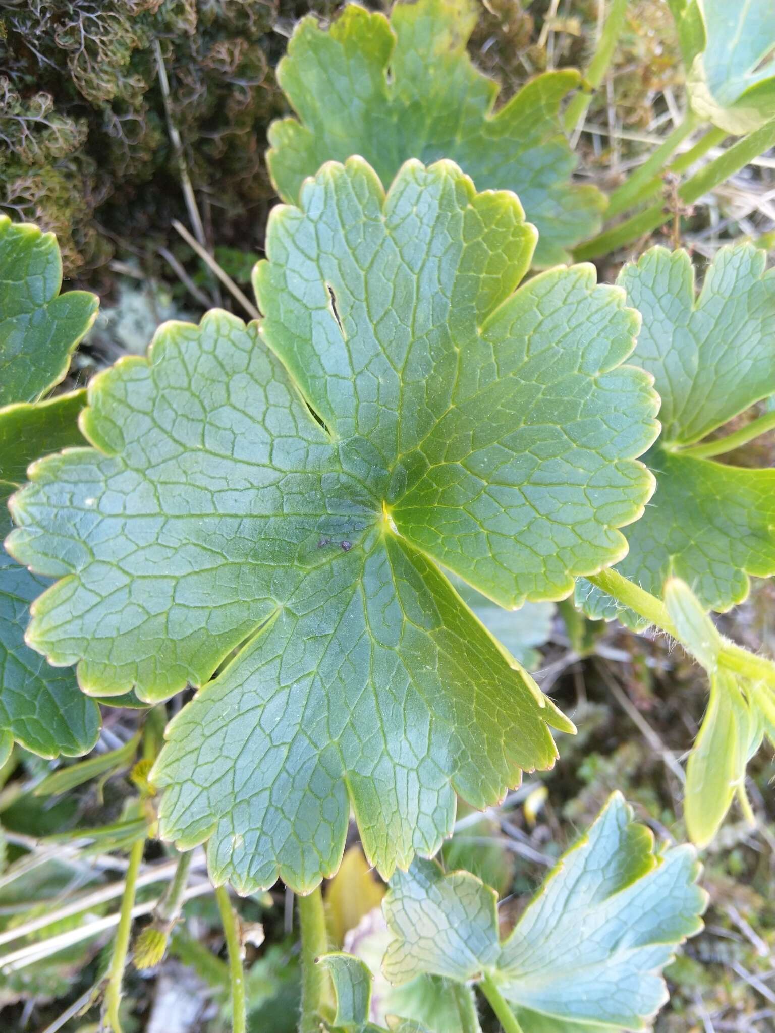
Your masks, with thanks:
M676 574L718 611L745 597L749 574L775 572L775 470L683 449L775 392L775 272L765 260L750 245L721 249L696 301L685 251L652 248L619 278L643 315L636 359L654 376L662 432L644 457L656 491L617 569L656 595ZM577 599L591 616L617 614L586 584Z

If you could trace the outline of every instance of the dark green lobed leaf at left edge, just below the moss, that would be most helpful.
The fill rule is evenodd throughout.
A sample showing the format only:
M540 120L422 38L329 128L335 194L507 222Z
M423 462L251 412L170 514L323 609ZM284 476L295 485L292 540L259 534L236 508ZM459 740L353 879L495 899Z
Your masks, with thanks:
M0 215L0 405L34 402L58 383L94 322L95 295L61 286L54 234Z

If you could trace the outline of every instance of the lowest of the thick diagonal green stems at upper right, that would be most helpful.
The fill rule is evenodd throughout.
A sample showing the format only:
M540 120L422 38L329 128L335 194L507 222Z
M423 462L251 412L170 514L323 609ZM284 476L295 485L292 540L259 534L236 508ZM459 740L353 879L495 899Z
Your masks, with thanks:
M691 176L679 188L679 200L684 205L693 204L773 146L775 146L775 119L748 133L747 136L743 136L718 158L709 162L705 168L701 168L700 171ZM625 219L613 229L607 229L598 237L582 244L574 251L574 258L577 261L587 261L590 258L598 258L600 255L616 251L618 248L626 247L639 238L646 237L658 229L671 218L672 213L659 201L645 211L639 212L638 215Z

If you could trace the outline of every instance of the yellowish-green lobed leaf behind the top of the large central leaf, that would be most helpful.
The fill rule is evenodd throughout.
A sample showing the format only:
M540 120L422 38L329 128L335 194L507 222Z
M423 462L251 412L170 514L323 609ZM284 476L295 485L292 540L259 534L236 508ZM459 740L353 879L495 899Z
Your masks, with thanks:
M278 66L299 121L269 130L267 160L280 196L296 204L305 177L352 154L385 187L408 158L451 158L477 190L519 195L538 228L536 265L568 261L605 207L595 187L570 181L576 158L558 112L579 73L538 75L494 114L498 85L466 53L477 17L472 0L416 0L396 3L390 22L357 4L328 31L305 18Z

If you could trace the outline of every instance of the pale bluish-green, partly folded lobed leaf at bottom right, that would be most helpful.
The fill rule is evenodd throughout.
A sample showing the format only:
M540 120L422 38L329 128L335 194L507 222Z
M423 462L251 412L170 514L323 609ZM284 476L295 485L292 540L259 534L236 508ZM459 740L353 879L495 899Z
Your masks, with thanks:
M619 793L558 863L513 933L498 935L496 895L468 872L415 859L384 900L394 939L383 970L492 980L525 1009L526 1030L598 1024L640 1030L668 997L662 968L702 928L706 895L693 848L654 850ZM535 1023L532 1014L558 1023Z

